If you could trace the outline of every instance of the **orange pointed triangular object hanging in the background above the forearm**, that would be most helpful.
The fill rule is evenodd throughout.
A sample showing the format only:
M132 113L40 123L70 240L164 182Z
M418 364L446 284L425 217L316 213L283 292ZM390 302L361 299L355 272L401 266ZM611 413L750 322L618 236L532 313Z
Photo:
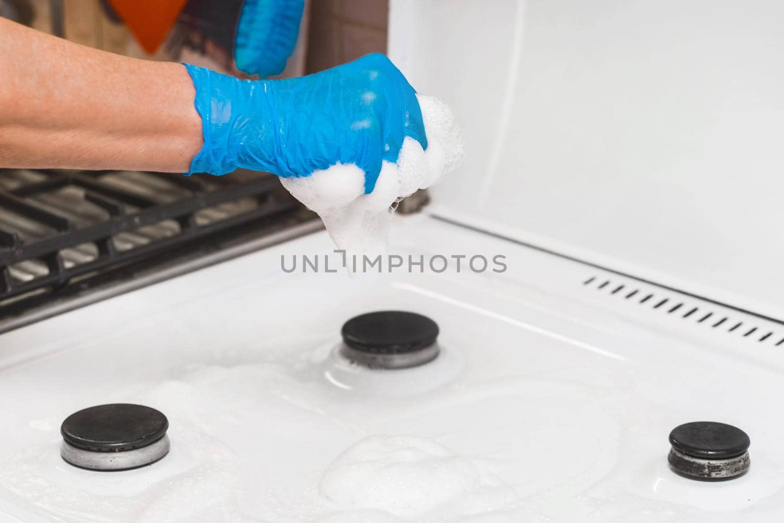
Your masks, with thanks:
M161 46L187 0L109 0L146 53Z

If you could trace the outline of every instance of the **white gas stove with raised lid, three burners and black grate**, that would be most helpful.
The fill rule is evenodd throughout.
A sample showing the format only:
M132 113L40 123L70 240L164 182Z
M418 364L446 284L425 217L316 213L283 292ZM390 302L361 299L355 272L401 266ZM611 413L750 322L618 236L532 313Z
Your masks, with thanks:
M391 0L466 160L353 278L260 173L5 176L0 520L781 520L784 4L683 4Z

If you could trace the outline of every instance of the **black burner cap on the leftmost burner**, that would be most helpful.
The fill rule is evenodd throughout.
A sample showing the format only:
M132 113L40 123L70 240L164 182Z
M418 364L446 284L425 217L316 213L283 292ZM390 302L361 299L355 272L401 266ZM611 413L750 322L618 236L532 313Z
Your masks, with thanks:
M162 412L130 403L97 405L74 412L60 427L63 439L78 449L122 452L163 438L169 420Z

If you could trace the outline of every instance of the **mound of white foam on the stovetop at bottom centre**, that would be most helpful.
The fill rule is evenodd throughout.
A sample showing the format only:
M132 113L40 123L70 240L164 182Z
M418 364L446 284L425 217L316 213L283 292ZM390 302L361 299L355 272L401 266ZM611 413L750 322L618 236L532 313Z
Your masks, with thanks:
M514 490L473 459L416 436L359 441L328 467L320 490L343 509L336 521L359 521L348 517L363 512L361 521L374 523L514 521L507 511L517 505Z

